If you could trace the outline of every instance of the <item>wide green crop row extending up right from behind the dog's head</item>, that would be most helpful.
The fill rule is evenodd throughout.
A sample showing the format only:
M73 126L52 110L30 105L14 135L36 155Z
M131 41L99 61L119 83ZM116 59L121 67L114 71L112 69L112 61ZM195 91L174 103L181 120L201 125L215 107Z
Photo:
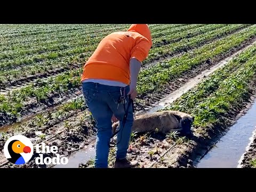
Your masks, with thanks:
M195 116L195 129L220 123L231 107L248 97L255 79L255 59L256 45L253 45L163 110L186 111Z

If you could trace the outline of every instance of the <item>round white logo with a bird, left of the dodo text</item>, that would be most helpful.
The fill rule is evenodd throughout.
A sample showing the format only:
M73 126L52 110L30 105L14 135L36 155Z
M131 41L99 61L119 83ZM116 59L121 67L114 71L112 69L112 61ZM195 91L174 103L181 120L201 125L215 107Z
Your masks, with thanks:
M14 135L5 142L4 155L13 164L22 165L27 163L33 153L33 144L23 135Z

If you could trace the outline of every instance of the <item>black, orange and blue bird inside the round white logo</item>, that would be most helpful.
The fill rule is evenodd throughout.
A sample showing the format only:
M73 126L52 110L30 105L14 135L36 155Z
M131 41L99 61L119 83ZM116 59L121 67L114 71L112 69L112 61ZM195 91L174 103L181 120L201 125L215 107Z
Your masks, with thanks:
M26 163L25 159L20 155L21 153L30 153L30 147L24 145L19 140L12 140L8 145L8 151L11 158L8 160L14 164L21 165Z

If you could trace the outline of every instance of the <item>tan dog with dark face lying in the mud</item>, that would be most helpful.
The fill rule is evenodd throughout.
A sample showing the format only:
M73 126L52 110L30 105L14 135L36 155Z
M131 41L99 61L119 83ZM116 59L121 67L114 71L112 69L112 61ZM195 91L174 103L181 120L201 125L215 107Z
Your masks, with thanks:
M178 131L181 135L192 137L191 126L193 122L194 117L189 114L180 111L165 110L136 116L133 121L132 132L146 133L158 129L158 132L161 133ZM116 132L118 125L119 122L113 123L113 133Z

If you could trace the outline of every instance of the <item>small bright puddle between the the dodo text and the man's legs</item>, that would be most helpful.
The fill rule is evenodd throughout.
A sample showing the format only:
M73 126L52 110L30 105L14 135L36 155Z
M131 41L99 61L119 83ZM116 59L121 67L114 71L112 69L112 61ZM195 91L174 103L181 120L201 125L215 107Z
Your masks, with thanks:
M86 148L73 153L68 157L68 163L66 165L55 165L52 168L78 168L80 163L86 163L92 158L95 158L94 142L86 146Z

